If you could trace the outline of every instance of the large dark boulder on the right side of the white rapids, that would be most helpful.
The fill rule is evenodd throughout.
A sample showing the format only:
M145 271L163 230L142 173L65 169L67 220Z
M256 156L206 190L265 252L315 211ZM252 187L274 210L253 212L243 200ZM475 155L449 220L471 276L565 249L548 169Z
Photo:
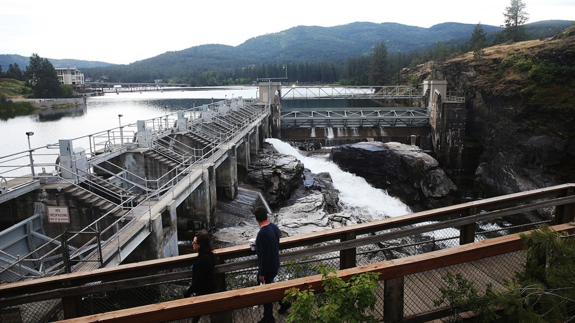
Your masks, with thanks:
M342 145L333 147L330 157L342 170L362 176L416 211L451 205L448 194L457 190L438 161L413 145L377 141Z

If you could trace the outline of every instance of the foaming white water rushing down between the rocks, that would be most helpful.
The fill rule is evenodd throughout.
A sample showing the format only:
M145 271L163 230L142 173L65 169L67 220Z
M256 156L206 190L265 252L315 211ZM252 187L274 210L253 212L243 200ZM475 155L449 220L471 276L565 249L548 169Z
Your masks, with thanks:
M277 152L296 157L314 173L329 172L333 186L339 191L340 203L346 212L370 216L373 220L412 213L399 199L390 197L385 190L375 189L359 176L342 171L325 156L307 157L281 140L266 139L266 141L273 144Z

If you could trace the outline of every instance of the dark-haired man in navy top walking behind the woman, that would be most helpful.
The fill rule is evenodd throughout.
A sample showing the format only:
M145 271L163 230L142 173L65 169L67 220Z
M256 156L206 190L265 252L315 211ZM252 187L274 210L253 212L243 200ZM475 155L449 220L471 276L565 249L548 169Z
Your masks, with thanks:
M255 220L258 221L259 232L255 239L255 251L258 255L258 282L271 284L279 270L279 229L267 218L267 210L263 206L254 209ZM279 302L279 313L291 306L290 303ZM258 323L274 323L273 303L263 305L263 318Z

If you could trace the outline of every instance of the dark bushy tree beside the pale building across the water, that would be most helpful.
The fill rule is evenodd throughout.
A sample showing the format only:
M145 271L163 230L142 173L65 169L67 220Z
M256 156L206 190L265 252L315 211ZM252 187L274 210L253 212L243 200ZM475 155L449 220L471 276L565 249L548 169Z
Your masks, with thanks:
M32 54L25 76L26 83L32 88L36 98L53 98L60 95L60 82L48 59Z

